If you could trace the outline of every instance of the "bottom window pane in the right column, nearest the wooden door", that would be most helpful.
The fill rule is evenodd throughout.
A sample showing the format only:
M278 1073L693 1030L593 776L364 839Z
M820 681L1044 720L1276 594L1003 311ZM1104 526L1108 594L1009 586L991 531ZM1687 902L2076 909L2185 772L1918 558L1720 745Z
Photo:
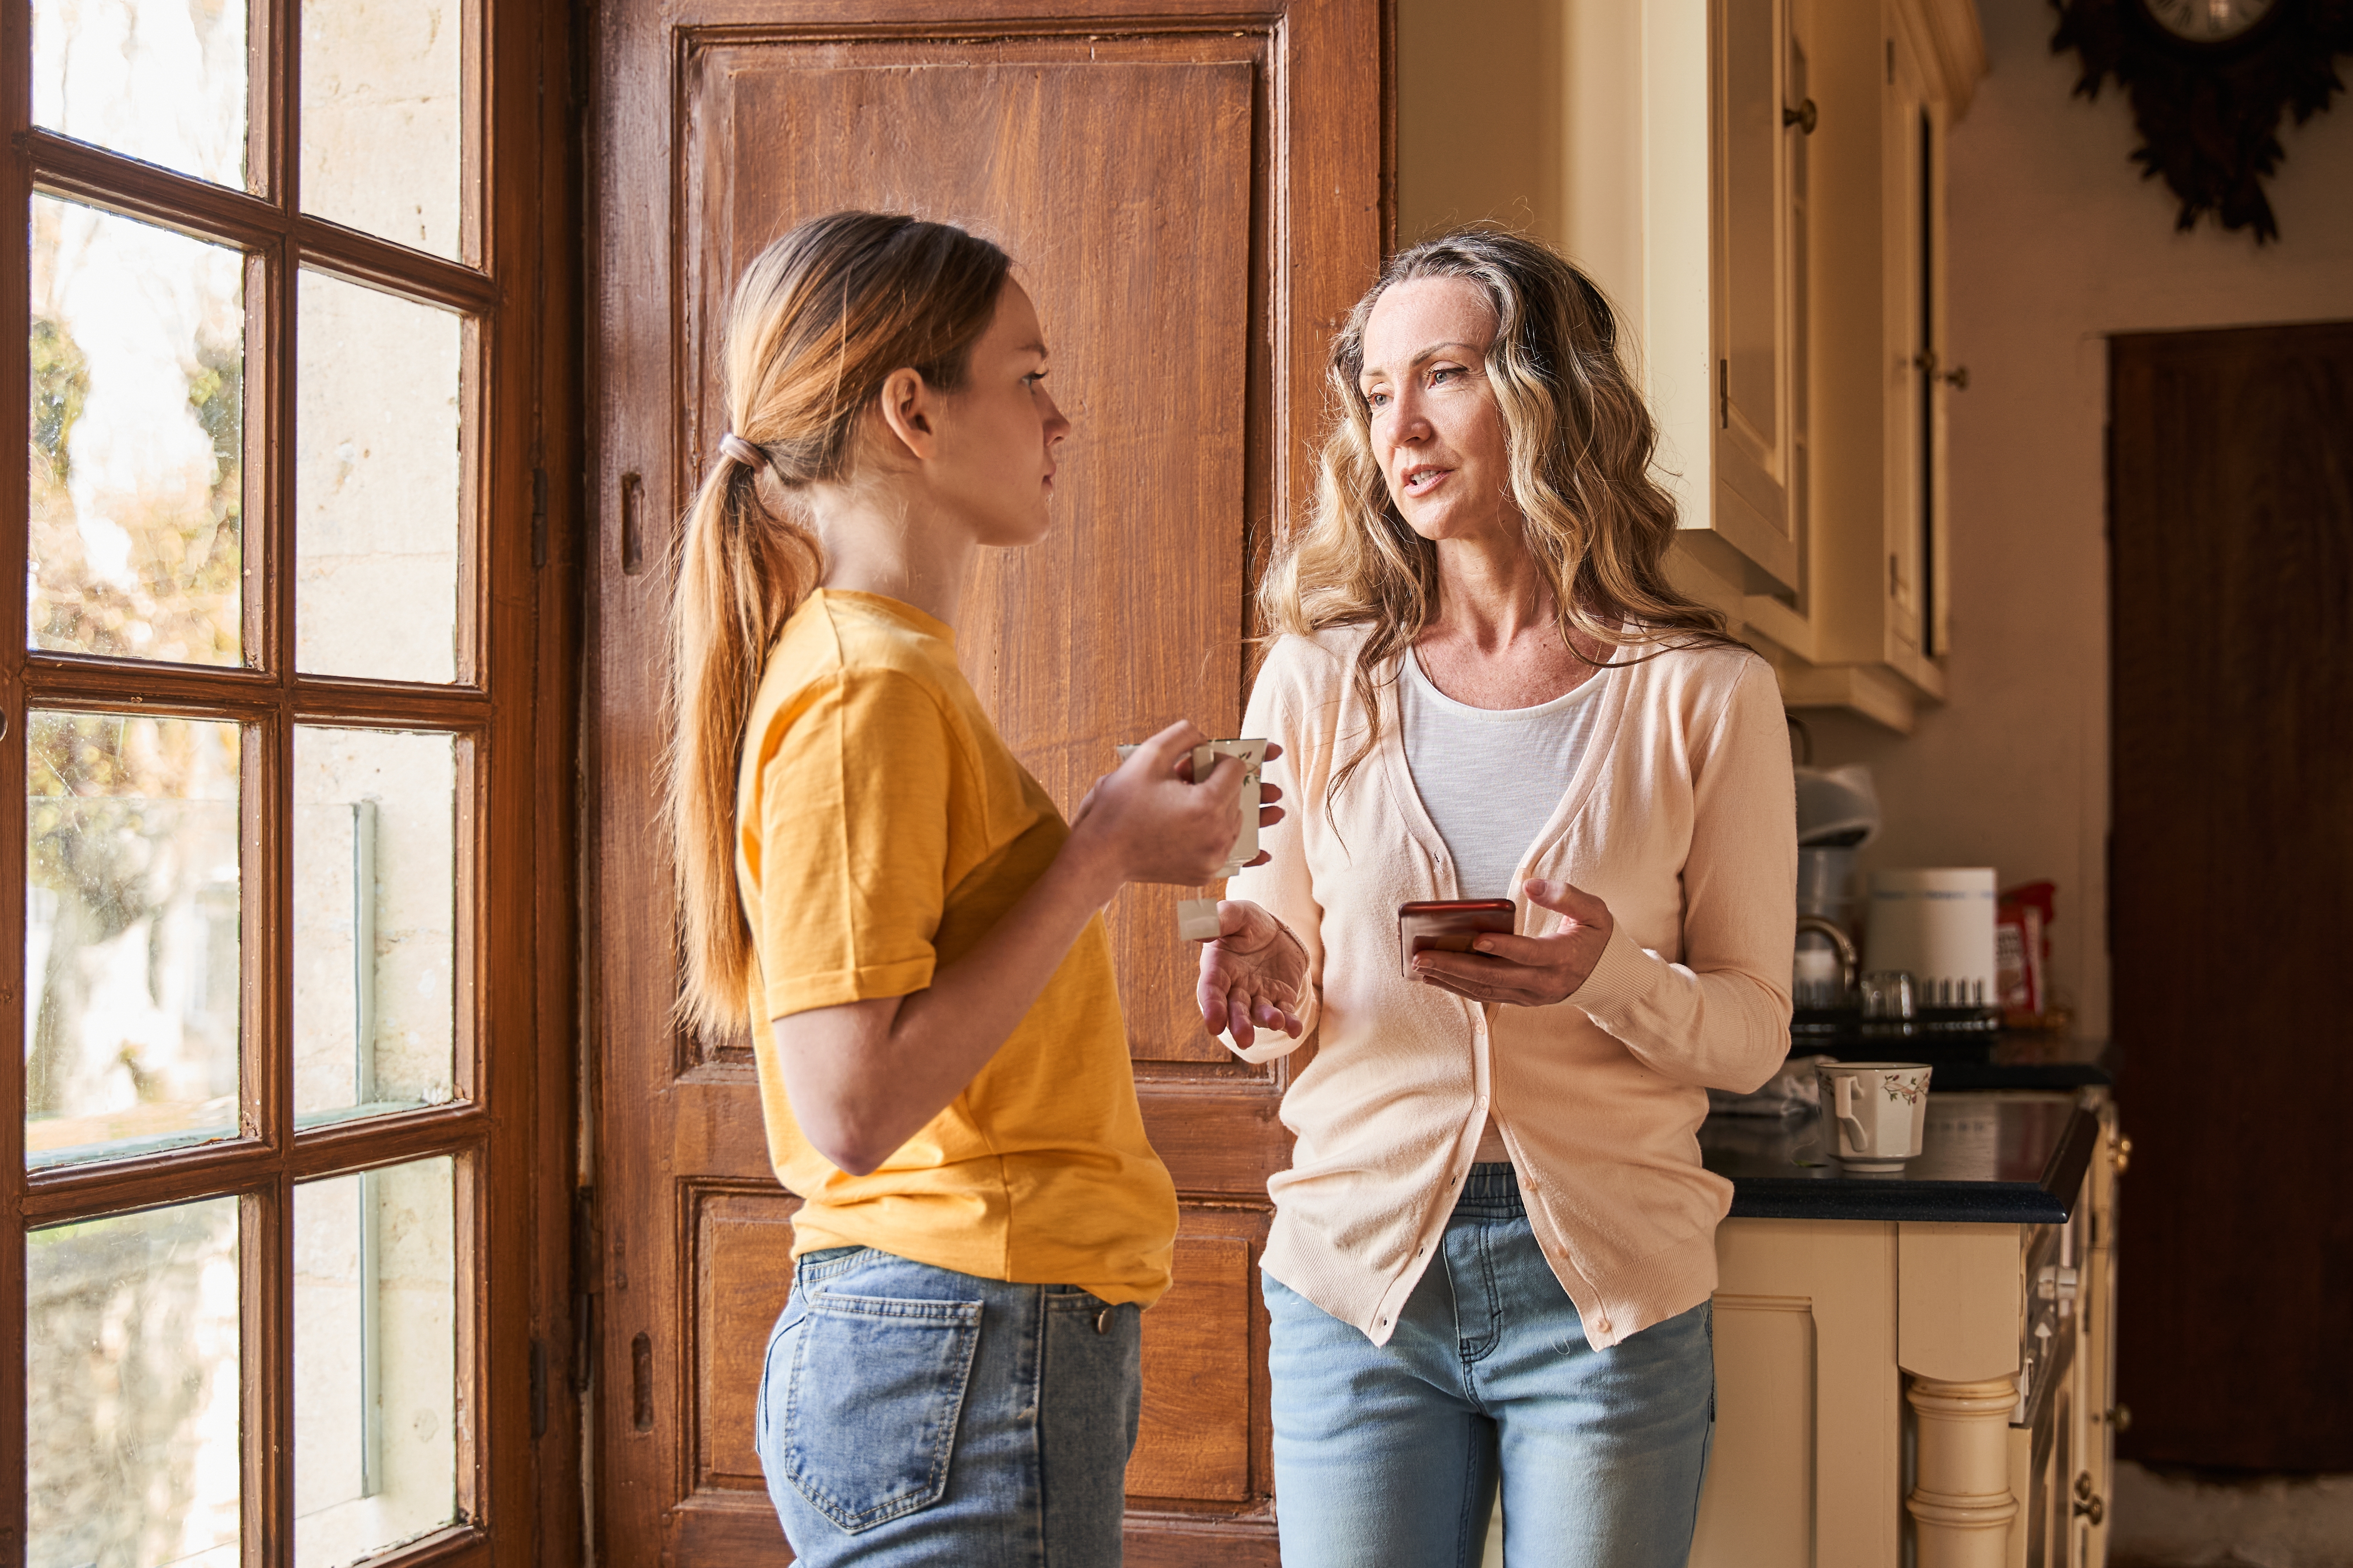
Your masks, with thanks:
M294 1187L294 1561L456 1519L456 1166Z

